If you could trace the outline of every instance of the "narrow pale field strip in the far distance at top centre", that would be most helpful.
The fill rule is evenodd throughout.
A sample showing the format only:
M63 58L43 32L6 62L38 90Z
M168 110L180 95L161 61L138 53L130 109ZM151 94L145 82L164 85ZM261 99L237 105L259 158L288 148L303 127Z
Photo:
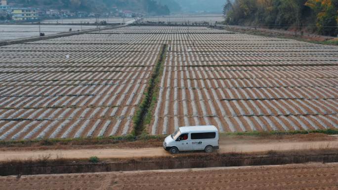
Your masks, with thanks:
M220 23L224 21L222 14L177 14L168 16L146 17L143 22L164 22L170 24L210 24Z

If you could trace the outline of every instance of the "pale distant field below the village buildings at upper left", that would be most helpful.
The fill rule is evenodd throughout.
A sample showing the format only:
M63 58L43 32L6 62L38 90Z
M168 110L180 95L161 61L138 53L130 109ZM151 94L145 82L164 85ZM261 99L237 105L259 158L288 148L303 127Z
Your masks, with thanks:
M39 33L39 25L0 25L0 41L2 40L10 40L10 39L18 39L18 38L30 38L30 37L38 37ZM76 26L76 25L41 25L40 31L45 35L53 35L63 32L68 32L69 29L72 31L77 30L86 30L93 29L96 26Z

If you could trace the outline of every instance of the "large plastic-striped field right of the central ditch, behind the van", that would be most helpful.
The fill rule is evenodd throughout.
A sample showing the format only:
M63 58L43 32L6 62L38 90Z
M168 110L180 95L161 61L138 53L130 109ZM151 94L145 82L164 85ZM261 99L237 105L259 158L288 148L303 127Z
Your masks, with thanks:
M154 30L153 28L149 29ZM338 128L338 48L200 27L164 28L167 58L150 134Z

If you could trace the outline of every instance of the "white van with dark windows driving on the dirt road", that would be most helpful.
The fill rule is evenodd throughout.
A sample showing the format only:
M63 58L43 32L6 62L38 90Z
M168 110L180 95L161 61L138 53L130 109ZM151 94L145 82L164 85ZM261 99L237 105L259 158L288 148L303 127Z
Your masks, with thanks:
M179 151L213 152L218 149L218 130L215 126L179 127L166 137L163 148L171 154Z

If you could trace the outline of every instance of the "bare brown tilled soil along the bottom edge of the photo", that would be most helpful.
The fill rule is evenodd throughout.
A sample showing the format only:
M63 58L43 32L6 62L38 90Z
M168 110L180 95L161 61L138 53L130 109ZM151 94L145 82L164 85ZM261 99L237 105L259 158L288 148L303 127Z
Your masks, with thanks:
M0 177L1 190L338 190L338 163Z

